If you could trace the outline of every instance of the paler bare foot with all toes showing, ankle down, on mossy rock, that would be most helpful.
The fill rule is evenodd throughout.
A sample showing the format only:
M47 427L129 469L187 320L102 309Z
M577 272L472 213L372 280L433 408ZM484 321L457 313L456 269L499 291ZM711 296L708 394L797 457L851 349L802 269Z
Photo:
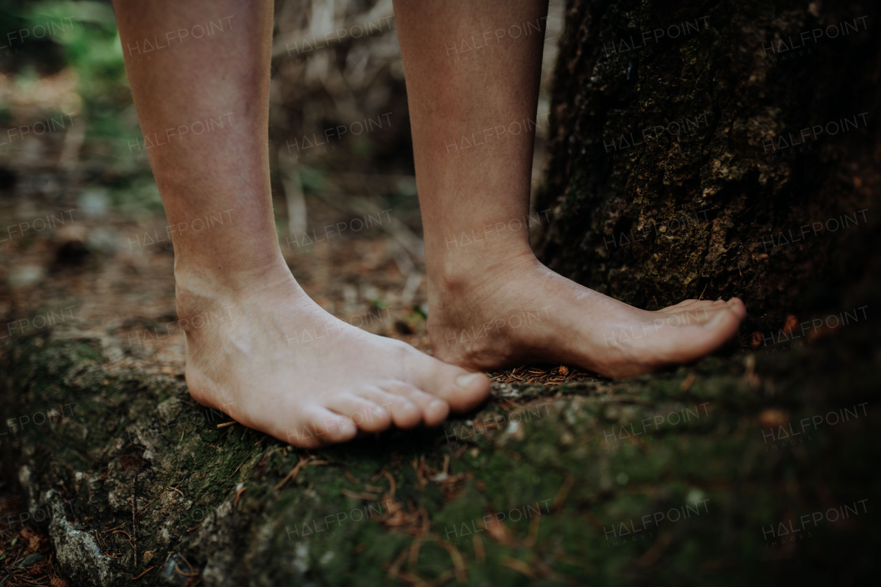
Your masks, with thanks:
M187 385L200 404L308 448L359 430L435 426L489 395L485 375L344 323L286 267L271 272L244 287L178 279Z

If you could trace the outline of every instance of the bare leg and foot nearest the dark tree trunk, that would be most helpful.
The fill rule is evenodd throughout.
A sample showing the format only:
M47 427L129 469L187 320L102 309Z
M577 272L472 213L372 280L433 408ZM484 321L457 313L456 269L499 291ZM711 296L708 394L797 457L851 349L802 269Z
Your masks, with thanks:
M426 236L428 331L467 368L531 360L648 372L722 346L746 310L648 312L540 264L525 227L546 0L396 0ZM544 31L544 27L543 27Z

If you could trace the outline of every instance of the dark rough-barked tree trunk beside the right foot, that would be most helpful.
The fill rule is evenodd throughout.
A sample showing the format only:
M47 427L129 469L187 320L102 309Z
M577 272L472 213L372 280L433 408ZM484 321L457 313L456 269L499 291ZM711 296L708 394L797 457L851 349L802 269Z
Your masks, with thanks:
M870 6L570 0L539 256L648 309L737 295L754 328L844 303L877 234Z

